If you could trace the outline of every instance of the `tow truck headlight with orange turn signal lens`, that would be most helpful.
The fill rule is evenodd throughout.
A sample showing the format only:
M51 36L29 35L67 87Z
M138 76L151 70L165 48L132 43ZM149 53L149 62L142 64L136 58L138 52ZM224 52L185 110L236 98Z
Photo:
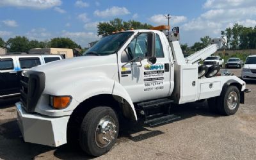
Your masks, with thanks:
M50 95L50 105L54 109L64 109L70 104L72 98L70 96L54 96Z

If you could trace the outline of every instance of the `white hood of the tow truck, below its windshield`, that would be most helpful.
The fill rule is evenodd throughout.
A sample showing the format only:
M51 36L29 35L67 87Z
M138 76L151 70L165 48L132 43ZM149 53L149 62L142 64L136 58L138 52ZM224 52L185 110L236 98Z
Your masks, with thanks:
M86 83L92 79L119 81L116 54L68 58L31 68L31 70L44 72L45 93L60 93L64 86L76 86L80 81ZM26 76L26 72L24 75Z

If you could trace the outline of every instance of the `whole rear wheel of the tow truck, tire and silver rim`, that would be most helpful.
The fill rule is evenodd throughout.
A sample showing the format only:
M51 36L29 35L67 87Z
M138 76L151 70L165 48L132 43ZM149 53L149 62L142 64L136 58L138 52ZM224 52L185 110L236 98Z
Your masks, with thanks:
M234 115L239 108L240 93L236 86L228 86L217 99L218 110L223 115Z

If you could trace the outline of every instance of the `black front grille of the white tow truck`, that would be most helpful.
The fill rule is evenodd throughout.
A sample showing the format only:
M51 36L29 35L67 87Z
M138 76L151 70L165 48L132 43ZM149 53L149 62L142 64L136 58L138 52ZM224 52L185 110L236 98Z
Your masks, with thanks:
M44 91L44 72L28 71L20 80L20 102L27 112L34 112L40 95Z

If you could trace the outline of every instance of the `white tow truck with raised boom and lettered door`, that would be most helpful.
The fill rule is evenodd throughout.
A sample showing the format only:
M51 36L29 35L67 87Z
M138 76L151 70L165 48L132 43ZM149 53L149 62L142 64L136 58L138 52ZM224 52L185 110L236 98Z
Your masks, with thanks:
M100 156L115 144L123 119L154 126L177 118L172 104L205 99L214 111L236 113L250 92L244 81L216 76L218 67L198 74L198 61L225 38L184 58L179 28L168 29L115 33L83 57L23 72L16 108L24 141L52 147L77 142L86 153Z

